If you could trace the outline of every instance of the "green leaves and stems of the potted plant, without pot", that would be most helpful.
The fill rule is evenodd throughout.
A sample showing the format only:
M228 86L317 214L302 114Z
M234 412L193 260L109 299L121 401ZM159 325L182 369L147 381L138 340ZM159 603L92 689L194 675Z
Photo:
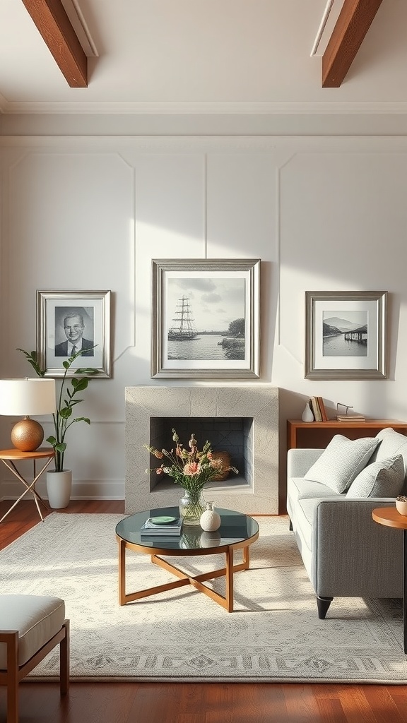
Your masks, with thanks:
M35 351L28 352L20 348L18 348L17 351L21 351L22 354L25 355L25 358L28 363L31 364L31 367L33 367L35 374L38 377L45 377L45 369L41 369L39 366ZM76 354L73 354L67 360L62 361L62 366L65 371L62 375L61 387L56 398L56 412L52 415L54 419L55 435L51 435L46 439L55 452L54 462L56 472L62 472L64 469L64 453L67 448L65 437L68 429L72 427L72 424L75 422L85 422L86 424L91 424L91 420L88 419L87 416L77 416L75 419L72 419L73 408L80 402L83 402L83 399L77 398L77 394L83 392L88 387L89 380L87 377L67 377L67 373L70 367L72 367L75 359L77 359L78 356L82 356L82 354L82 350L77 351ZM75 374L77 375L97 373L98 369L93 369L93 367L75 369ZM68 379L70 379L70 385L68 384Z

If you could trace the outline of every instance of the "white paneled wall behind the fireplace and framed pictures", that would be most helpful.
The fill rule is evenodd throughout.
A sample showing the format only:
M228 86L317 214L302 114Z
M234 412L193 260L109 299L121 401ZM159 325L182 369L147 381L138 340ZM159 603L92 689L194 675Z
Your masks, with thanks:
M166 384L150 379L152 258L261 258L259 381L280 388L282 461L285 419L309 395L322 395L332 414L340 401L407 419L406 139L0 144L0 376L30 372L15 350L35 348L37 289L112 290L113 377L91 381L80 408L91 427L75 425L68 440L74 496L124 497L125 387ZM359 289L390 294L389 379L304 380L304 291ZM0 419L2 448L9 429ZM0 474L0 497L20 492Z

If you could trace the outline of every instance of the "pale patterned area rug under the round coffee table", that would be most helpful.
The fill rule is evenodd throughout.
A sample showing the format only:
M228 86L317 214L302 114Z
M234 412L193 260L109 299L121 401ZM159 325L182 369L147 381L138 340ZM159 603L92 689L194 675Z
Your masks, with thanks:
M227 613L189 586L120 607L122 516L54 513L0 552L2 593L64 598L72 680L407 683L401 601L336 598L319 620L287 517L257 518L251 568L235 573ZM214 557L184 562L196 573L214 567ZM127 592L172 579L127 551ZM56 649L35 677L54 677L58 664Z

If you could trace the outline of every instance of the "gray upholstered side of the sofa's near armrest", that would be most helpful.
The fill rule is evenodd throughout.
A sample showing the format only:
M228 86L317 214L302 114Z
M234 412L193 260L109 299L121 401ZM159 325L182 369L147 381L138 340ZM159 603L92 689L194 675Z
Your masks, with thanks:
M372 510L389 497L320 500L314 510L312 582L320 596L403 596L403 534Z

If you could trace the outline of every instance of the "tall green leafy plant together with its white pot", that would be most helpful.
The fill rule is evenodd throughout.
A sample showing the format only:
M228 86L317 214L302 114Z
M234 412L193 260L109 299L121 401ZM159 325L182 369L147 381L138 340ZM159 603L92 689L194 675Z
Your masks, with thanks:
M35 351L25 351L24 349L18 349L25 355L27 361L33 367L35 374L38 377L45 377L45 369L41 369L37 361L37 354ZM83 392L87 387L89 380L87 377L67 377L67 372L72 367L73 362L78 356L82 356L83 351L77 351L76 354L70 356L67 360L62 361L64 367L64 374L62 375L61 387L56 398L56 412L52 415L54 419L55 434L47 437L46 441L49 442L51 447L54 449L54 471L48 471L46 473L46 489L48 494L49 505L53 509L61 509L67 507L70 501L71 489L72 489L72 470L64 469L64 454L67 449L67 442L65 437L68 429L75 422L85 422L91 424L91 420L86 416L77 416L72 419L73 408L83 401L83 399L77 398L77 394ZM92 367L86 367L85 369L75 369L75 374L96 374L97 369ZM70 379L70 384L68 383Z

